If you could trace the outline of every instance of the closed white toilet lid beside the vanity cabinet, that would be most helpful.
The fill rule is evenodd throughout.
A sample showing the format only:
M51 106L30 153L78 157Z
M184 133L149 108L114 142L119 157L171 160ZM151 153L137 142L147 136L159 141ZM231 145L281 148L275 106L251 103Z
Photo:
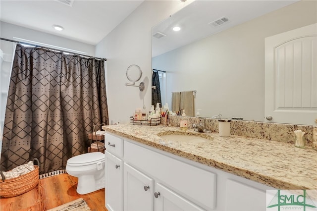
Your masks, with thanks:
M105 160L105 154L101 152L86 153L67 160L68 165L91 165Z

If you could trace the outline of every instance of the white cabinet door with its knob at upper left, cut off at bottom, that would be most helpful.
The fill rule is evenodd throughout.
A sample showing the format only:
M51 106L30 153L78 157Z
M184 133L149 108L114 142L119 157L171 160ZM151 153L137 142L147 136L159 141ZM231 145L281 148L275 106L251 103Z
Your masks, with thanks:
M202 211L203 209L179 196L160 183L155 184L155 211Z

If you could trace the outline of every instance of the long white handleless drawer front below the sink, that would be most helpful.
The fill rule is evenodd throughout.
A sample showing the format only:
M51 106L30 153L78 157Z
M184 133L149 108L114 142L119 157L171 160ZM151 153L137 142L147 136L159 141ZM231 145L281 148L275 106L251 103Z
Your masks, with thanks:
M124 140L124 160L202 206L215 208L216 174Z

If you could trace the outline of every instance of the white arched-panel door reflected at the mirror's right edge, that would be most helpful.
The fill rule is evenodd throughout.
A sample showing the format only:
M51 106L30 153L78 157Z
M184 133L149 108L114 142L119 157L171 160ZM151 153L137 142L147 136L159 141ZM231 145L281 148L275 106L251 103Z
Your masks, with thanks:
M264 114L291 124L317 118L317 24L265 38Z

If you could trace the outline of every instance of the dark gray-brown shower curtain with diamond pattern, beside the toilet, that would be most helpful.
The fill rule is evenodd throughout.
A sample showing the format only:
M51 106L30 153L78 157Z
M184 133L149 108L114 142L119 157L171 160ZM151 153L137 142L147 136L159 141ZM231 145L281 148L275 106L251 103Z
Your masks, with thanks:
M40 160L40 174L87 152L108 125L105 61L17 45L5 111L1 170Z

